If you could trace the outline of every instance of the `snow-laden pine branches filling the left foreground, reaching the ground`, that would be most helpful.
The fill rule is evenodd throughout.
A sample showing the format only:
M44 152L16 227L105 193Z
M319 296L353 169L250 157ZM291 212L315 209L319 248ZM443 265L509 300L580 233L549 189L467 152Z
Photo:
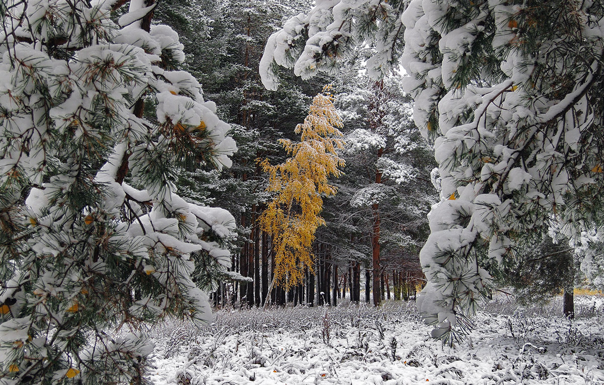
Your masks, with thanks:
M144 335L111 332L167 314L210 320L193 260L230 263L233 217L174 183L183 162L230 165L230 126L175 71L182 44L150 25L154 1L132 0L123 28L116 3L3 3L2 383L144 383Z

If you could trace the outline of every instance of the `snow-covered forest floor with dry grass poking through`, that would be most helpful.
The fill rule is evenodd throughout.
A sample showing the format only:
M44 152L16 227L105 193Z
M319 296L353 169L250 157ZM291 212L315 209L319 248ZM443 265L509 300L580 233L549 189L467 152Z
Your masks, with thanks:
M154 384L604 384L604 297L519 307L505 296L453 348L429 337L414 302L373 308L217 310L203 329L153 329ZM327 316L325 316L325 314Z

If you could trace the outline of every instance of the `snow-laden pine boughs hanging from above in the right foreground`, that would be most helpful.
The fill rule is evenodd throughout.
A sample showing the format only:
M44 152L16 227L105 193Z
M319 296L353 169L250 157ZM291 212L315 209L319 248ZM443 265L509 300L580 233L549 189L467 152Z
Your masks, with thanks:
M440 169L420 256L435 336L464 331L490 295L485 267L515 258L525 232L602 225L602 25L600 1L318 1L269 39L269 88L267 62L309 77L374 43L368 73L381 77L400 57ZM593 261L583 270L599 271Z

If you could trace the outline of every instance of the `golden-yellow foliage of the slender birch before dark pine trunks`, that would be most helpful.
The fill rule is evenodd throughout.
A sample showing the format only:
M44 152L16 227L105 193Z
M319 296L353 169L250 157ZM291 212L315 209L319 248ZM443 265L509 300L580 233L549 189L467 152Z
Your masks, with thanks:
M330 91L331 86L326 86L313 98L304 123L296 126L300 143L280 139L290 155L286 162L280 165L262 162L263 170L269 174L266 190L277 194L261 215L260 226L272 235L274 274L277 282L287 287L301 282L304 267L312 271L315 231L325 224L320 217L321 197L336 193L327 179L340 176L338 167L344 167L344 159L336 153L344 147L339 131L342 119L336 113Z

